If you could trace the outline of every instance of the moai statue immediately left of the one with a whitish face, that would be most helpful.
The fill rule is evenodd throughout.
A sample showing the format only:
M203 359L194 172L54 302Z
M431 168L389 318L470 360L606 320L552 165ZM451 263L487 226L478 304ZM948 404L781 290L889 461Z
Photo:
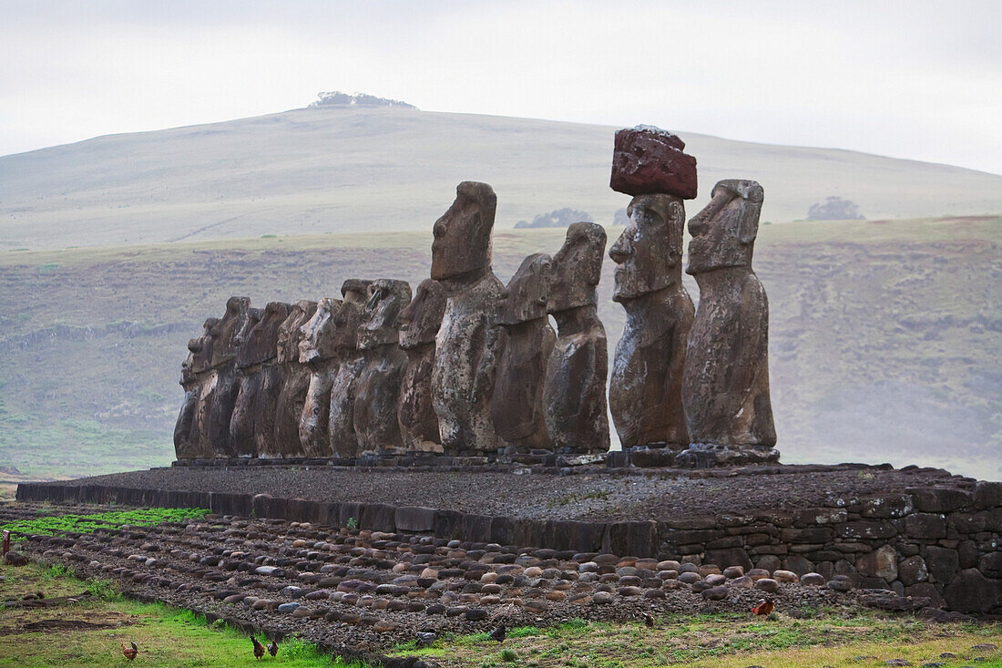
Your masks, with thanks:
M274 451L262 456L303 457L300 442L300 419L310 388L310 367L300 362L300 342L303 325L317 312L317 302L301 300L289 311L289 317L279 328L276 360L282 370L282 390L275 407Z

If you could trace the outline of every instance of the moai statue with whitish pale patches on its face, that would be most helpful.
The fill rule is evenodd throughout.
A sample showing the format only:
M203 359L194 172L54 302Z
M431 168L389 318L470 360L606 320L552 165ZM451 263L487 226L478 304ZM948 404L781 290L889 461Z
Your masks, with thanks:
M340 309L340 299L324 297L301 328L300 362L310 369L310 384L300 415L300 446L307 457L329 457L333 453L329 422L331 386L339 363L335 315Z

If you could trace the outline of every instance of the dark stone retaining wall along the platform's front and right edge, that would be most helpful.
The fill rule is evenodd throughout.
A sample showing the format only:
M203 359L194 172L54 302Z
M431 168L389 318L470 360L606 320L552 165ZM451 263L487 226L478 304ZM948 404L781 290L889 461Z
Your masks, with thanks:
M500 546L605 553L694 564L845 576L965 613L1002 614L1002 482L971 490L909 488L821 508L681 517L666 522L509 518L389 504L324 503L268 494L22 483L18 500L166 508L434 534ZM667 499L666 499L667 500Z

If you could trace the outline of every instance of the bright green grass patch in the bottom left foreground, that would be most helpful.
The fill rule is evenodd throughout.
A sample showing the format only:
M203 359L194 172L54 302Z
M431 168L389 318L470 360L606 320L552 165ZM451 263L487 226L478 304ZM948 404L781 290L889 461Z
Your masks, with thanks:
M0 567L7 580L0 582L0 599L19 598L44 590L48 598L76 595L93 583L53 576L31 565L22 569ZM105 626L100 629L9 633L30 622L58 619ZM7 631L7 632L5 632ZM264 637L259 640L266 642ZM296 638L280 643L279 655L259 662L247 636L221 622L162 604L140 604L117 596L38 610L0 607L0 666L19 668L76 668L130 665L121 654L135 641L139 655L131 665L145 666L289 666L290 668L367 668L318 652L315 645Z

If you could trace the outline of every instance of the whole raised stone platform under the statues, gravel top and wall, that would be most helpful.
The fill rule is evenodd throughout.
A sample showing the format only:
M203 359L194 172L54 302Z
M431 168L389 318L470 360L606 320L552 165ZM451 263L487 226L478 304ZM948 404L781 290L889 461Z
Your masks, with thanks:
M185 466L26 483L18 499L200 507L473 543L816 571L1002 613L1002 483L941 469Z

